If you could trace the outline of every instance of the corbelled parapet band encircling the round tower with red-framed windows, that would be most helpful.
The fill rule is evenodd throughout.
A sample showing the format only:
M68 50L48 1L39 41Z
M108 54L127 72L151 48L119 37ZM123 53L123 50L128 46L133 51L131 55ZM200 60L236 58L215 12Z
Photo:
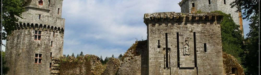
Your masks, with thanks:
M15 28L16 28L16 30L34 29L34 30L41 30L41 31L64 33L64 28L62 28L62 27L56 27L56 26L45 25L45 24L37 24L37 23L17 23Z

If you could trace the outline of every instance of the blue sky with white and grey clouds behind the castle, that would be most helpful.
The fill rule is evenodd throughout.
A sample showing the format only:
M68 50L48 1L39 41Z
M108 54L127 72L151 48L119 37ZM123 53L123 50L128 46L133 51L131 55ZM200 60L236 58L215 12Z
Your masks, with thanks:
M181 0L63 0L65 18L63 54L118 57L147 39L145 13L181 12ZM243 20L244 35L250 22ZM5 41L3 41L5 44ZM5 51L5 47L2 47Z

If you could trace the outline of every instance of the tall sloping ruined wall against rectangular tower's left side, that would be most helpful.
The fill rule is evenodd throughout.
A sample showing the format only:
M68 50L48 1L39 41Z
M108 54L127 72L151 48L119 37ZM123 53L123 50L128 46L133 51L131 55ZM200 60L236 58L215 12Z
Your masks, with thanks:
M136 41L121 59L117 75L147 75L148 51L147 40Z

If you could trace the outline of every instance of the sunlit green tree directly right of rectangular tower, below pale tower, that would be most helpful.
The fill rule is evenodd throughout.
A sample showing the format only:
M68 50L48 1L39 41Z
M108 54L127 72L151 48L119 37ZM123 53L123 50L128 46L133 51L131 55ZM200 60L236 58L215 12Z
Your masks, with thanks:
M222 51L233 55L241 63L241 55L244 52L242 31L239 29L239 25L235 24L232 17L221 11L213 11L223 15L223 19L220 23L221 26L221 38L222 38Z

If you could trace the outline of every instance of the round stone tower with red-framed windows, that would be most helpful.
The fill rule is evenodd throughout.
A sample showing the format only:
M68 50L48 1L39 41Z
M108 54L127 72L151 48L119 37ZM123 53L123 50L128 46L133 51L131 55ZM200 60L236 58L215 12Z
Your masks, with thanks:
M25 0L26 11L7 35L8 75L50 75L51 60L63 53L63 0Z

